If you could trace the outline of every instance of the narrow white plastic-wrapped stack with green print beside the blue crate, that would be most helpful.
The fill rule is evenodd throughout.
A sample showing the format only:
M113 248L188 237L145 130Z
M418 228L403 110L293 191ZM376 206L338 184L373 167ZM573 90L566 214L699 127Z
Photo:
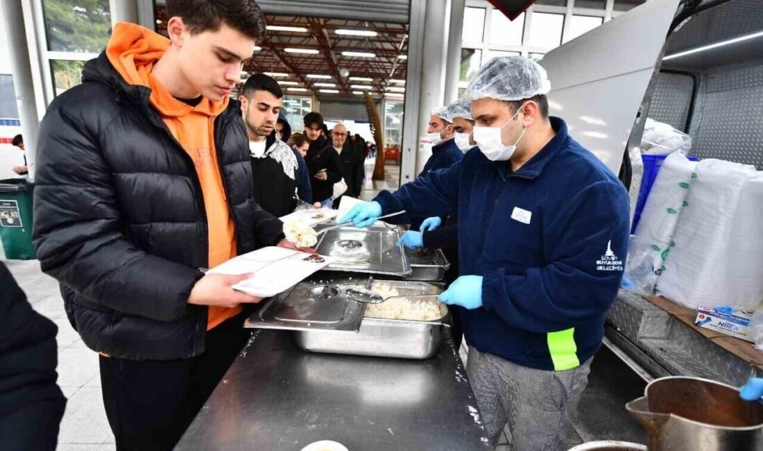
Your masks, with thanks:
M670 251L678 216L684 207L696 167L697 163L690 161L683 153L671 153L662 163L646 198L641 221L636 227L636 241L639 247L652 249L656 274L661 272L663 261Z

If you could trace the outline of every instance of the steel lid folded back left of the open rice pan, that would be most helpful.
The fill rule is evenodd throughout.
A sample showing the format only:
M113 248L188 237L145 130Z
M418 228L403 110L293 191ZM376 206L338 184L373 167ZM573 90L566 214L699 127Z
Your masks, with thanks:
M365 304L347 298L343 287L365 286L367 282L367 276L314 275L270 298L244 322L244 327L357 332Z

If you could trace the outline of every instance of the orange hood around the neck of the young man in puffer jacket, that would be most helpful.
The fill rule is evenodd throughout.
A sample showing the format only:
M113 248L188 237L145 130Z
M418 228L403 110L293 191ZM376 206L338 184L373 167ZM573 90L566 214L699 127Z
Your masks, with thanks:
M163 85L151 75L154 63L169 48L169 39L140 25L118 22L106 46L106 56L111 66L130 85L142 85L151 89L150 102L166 117L178 117L192 111L217 116L225 111L228 96L221 101L202 98L195 107L172 97Z

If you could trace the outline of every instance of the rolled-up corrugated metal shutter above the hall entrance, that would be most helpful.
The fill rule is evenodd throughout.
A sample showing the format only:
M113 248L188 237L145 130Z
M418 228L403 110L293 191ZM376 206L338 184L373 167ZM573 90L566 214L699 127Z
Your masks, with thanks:
M410 0L258 0L266 14L408 23Z

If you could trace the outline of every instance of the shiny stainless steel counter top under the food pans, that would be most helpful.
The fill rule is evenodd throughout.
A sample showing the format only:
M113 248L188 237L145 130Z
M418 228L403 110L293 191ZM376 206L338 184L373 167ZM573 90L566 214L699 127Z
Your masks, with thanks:
M416 361L306 353L291 332L256 330L176 449L489 449L445 333L436 356Z

